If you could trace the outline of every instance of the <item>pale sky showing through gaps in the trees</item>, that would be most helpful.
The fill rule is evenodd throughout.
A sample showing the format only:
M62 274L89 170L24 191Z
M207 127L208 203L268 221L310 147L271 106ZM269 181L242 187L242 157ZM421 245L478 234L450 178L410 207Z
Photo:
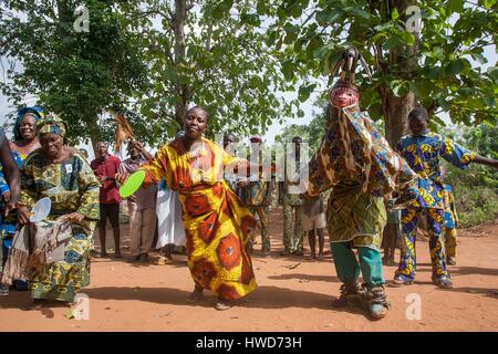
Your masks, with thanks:
M456 21L456 19L452 19L453 21ZM498 55L496 54L496 50L495 46L487 46L485 49L485 56L488 59L488 63L483 65L483 71L486 71L487 67L491 66L491 65L496 65L496 63L498 62ZM3 63L6 63L4 59L0 58L0 60L2 60ZM470 60L471 61L471 60ZM471 61L473 62L473 61ZM476 62L473 62L473 65L478 65ZM0 75L2 75L2 72L0 70ZM0 77L0 80L2 80ZM321 83L322 80L318 81L318 83ZM326 87L319 87L319 90L325 90ZM280 95L282 97L284 97L286 100L295 100L298 96L298 93L290 93L290 92L284 92L284 93L280 93ZM310 97L308 98L307 102L301 104L301 110L304 112L304 117L302 118L288 118L286 119L286 122L283 124L280 124L279 122L276 122L273 124L271 124L268 128L268 131L266 132L266 134L263 135L263 140L266 144L271 145L274 142L274 137L281 133L282 127L290 125L290 124L298 124L298 125L307 125L311 122L311 119L313 118L313 111L319 112L321 110L321 107L318 107L314 105L314 102L317 102L317 98L319 96L319 91L313 92ZM37 98L35 97L28 97L24 102L24 104L27 105L33 105L35 103ZM361 98L360 98L361 101ZM8 113L11 113L14 111L14 107L8 102L8 97L6 97L4 95L0 94L0 126L3 126L4 121L6 121L6 115ZM450 123L450 118L447 114L443 114L442 115L443 121L445 121L445 123ZM10 132L6 132L8 134L8 136L10 136ZM89 150L91 157L94 156L93 154L93 149L91 146L89 145L82 145L81 147L84 147Z

